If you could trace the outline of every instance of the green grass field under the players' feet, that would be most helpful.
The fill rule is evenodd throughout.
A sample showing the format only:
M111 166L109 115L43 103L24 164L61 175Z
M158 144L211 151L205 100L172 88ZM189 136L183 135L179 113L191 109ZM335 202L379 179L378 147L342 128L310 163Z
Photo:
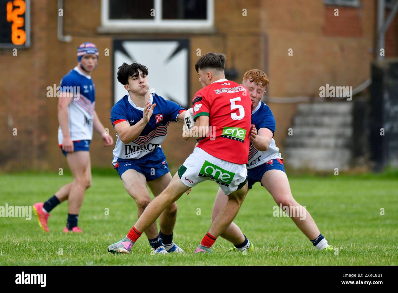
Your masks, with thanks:
M293 196L306 206L338 254L316 250L290 218L273 217L275 202L259 183L234 220L253 242L254 251L227 253L229 243L219 238L213 246L215 253L193 254L210 226L218 189L207 181L177 202L174 240L185 254L151 255L142 236L132 254L113 255L106 248L127 234L137 219L137 207L116 172L94 173L79 216L83 234L61 232L67 203L51 213L50 233L39 228L34 214L31 220L1 217L0 265L396 265L397 178L396 173L289 177ZM71 180L70 175L58 173L1 174L0 206L45 201Z

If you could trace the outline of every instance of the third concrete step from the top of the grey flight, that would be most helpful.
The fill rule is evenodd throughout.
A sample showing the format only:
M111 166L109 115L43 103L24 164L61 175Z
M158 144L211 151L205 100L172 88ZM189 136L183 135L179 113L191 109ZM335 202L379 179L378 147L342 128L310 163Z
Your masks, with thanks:
M286 141L291 137L342 137L351 138L352 127L332 127L332 126L293 126L292 136L287 136Z

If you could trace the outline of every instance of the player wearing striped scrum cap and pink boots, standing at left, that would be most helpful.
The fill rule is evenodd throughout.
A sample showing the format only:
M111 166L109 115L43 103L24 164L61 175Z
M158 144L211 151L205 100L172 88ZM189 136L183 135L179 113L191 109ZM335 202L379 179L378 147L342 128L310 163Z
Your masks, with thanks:
M66 156L73 182L62 186L45 203L35 203L33 211L40 227L49 232L48 217L51 210L66 199L68 218L63 232L82 232L78 215L84 192L91 185L90 142L94 129L101 134L104 146L113 145L113 139L101 124L95 109L95 87L91 73L98 65L98 49L90 42L77 49L78 64L61 82L62 93L58 102L58 144Z

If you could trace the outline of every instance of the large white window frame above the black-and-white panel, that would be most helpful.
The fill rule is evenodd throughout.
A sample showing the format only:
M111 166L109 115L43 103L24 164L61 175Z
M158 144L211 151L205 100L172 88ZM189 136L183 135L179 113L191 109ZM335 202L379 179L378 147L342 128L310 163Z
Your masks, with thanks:
M164 0L154 0L155 16L153 20L111 20L109 19L109 1L101 0L101 28L99 31L129 31L129 32L148 32L148 31L205 31L212 30L214 26L214 0L207 1L206 20L162 20L162 2ZM148 14L150 11L148 11Z

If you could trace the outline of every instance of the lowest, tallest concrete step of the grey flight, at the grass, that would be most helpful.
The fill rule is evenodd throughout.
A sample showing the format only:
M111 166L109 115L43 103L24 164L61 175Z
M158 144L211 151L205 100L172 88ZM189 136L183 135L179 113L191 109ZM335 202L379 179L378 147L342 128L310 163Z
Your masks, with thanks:
M349 168L351 151L348 148L286 147L282 155L286 158L286 164L295 169L334 172L335 168L339 171Z

